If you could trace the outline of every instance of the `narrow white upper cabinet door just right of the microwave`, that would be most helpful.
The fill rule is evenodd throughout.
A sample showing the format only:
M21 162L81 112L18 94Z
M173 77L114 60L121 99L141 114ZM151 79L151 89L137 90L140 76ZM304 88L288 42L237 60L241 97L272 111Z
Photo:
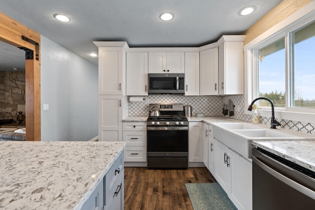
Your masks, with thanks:
M199 96L199 52L185 53L185 95Z

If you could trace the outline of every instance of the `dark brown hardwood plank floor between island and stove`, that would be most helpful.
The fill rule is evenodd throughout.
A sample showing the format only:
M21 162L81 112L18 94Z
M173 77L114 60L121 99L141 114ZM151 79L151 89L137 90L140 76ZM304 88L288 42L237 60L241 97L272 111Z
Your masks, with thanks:
M207 168L125 167L125 210L193 210L186 183L214 183Z

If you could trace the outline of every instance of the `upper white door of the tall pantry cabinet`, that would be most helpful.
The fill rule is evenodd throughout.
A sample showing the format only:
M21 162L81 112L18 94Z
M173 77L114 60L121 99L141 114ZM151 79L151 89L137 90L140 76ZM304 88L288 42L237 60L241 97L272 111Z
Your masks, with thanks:
M123 48L98 49L98 94L123 95L126 52ZM125 77L124 77L125 76Z

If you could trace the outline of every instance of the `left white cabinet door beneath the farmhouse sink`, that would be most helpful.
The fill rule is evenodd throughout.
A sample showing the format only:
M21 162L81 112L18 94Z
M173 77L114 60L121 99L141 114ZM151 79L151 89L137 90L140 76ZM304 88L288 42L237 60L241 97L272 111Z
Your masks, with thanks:
M229 195L231 192L231 164L230 152L225 145L215 139L215 174L214 177Z

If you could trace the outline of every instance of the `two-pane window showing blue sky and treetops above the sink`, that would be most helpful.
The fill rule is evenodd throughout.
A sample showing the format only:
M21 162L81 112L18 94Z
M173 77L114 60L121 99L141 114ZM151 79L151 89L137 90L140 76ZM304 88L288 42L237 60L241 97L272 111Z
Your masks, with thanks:
M284 110L315 110L315 21L279 34L253 51L257 62L253 95L269 98ZM265 100L258 103L270 106Z

